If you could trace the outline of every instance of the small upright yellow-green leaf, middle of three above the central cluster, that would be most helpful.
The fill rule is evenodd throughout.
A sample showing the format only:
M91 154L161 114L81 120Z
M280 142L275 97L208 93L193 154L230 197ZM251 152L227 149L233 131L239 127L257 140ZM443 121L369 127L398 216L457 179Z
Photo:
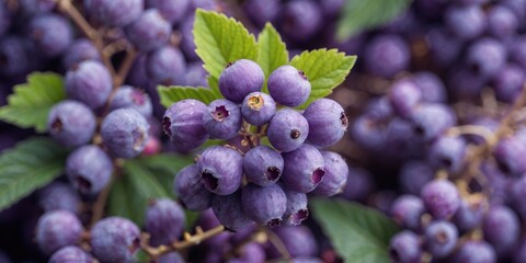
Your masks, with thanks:
M265 27L258 36L258 44L260 45L258 64L263 69L263 72L265 72L266 77L263 92L268 93L268 90L266 89L266 80L272 71L288 62L288 52L279 33L277 33L276 28L274 28L271 23L266 23Z

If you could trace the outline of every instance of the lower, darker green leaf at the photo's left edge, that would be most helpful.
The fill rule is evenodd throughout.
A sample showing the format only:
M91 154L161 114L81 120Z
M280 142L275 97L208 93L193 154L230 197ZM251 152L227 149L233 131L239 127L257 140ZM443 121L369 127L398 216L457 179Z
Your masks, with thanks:
M67 151L47 138L19 142L0 156L0 210L42 187L64 171Z

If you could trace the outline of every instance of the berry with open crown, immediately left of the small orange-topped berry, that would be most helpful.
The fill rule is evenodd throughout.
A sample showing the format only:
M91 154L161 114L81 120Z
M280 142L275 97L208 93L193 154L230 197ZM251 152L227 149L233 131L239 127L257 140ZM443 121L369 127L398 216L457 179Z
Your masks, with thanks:
M203 114L205 130L215 139L231 139L238 135L242 124L241 110L228 100L219 99L210 102Z

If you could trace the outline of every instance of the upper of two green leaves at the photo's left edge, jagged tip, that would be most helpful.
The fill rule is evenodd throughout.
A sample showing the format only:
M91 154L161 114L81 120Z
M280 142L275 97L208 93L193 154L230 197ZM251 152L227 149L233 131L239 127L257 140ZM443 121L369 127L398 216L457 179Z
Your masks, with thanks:
M27 83L14 87L13 94L8 96L8 105L0 107L0 121L44 133L49 110L64 99L66 92L59 75L32 73Z

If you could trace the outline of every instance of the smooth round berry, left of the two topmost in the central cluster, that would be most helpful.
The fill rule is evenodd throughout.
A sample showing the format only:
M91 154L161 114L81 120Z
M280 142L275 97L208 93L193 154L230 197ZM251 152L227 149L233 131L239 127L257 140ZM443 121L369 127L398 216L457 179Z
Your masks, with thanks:
M261 67L249 59L239 59L227 65L219 76L219 91L227 99L241 103L243 99L261 91L265 73Z

